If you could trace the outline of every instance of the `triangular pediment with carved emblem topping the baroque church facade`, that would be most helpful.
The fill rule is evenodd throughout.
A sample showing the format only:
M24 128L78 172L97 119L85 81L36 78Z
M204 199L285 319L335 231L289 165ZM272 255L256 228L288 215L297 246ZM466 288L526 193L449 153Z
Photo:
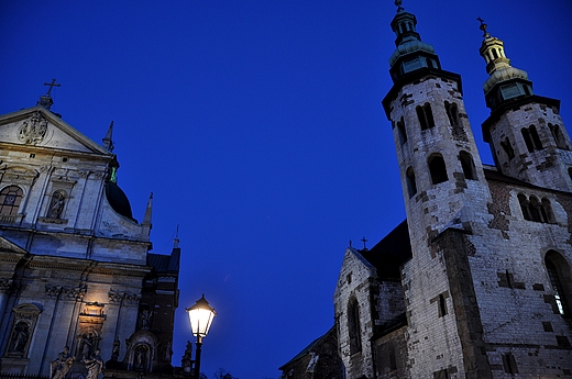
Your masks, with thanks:
M113 155L40 105L0 116L0 142L48 149Z

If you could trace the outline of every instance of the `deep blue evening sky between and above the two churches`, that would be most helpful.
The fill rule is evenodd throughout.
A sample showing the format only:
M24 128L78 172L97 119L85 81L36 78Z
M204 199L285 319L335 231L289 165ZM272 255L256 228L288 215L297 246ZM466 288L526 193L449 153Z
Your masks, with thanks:
M572 122L569 0L404 7L462 75L479 143L477 16ZM53 110L67 123L100 143L114 121L136 219L154 192L153 252L170 252L180 225L175 365L191 339L184 309L205 293L219 315L202 371L277 378L333 325L349 239L371 247L405 218L380 104L394 14L391 0L0 0L0 113L35 105L56 78Z

